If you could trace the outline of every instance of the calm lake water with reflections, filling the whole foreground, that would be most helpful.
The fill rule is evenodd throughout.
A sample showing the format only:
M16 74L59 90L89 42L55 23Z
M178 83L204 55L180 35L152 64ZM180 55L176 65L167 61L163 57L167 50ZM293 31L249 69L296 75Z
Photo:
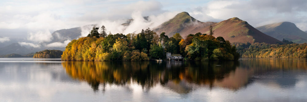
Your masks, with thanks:
M306 59L0 58L0 101L307 101Z

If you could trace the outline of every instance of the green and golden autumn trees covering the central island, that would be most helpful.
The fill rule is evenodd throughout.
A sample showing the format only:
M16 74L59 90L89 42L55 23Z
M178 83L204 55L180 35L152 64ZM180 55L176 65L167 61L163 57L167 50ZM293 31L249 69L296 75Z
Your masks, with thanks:
M210 34L190 34L185 38L176 33L168 37L147 28L138 34L107 34L106 28L93 27L87 37L72 40L65 48L62 60L71 61L147 61L164 59L165 53L181 54L185 60L238 60L236 47L223 37Z

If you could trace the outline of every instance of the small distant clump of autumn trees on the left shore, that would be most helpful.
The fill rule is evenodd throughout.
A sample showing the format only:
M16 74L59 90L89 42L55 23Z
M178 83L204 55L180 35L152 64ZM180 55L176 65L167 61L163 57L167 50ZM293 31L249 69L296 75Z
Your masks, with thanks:
M62 54L63 51L60 50L46 49L44 51L34 53L33 58L60 58Z

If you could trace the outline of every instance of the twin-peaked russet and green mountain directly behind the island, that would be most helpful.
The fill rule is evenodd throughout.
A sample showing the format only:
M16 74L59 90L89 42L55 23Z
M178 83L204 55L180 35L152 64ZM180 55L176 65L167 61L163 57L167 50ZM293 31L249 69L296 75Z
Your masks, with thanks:
M230 42L254 43L265 42L269 44L283 43L273 37L270 37L256 28L252 27L246 21L237 17L214 22L201 22L190 16L187 12L177 14L173 19L161 24L155 28L157 34L165 32L169 37L175 33L180 33L185 37L188 34L196 34L197 32L209 33L209 26L212 25L215 37L223 37Z

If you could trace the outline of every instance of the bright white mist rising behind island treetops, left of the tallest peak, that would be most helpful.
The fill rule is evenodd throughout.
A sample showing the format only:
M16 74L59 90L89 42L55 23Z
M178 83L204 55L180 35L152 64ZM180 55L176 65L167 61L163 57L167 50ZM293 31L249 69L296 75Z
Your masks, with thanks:
M148 27L153 29L154 27L161 25L163 22L173 18L177 13L179 12L165 12L158 14L157 16L150 15L148 16L148 20L145 20L142 16L142 12L136 11L131 14L133 21L131 21L128 26L122 25L123 23L126 23L127 20L102 20L99 24L97 24L97 27L104 25L107 28L107 31L110 31L112 34L122 33L126 35L129 33L140 33L142 29L146 29ZM93 25L81 27L81 36L87 36L92 27Z

